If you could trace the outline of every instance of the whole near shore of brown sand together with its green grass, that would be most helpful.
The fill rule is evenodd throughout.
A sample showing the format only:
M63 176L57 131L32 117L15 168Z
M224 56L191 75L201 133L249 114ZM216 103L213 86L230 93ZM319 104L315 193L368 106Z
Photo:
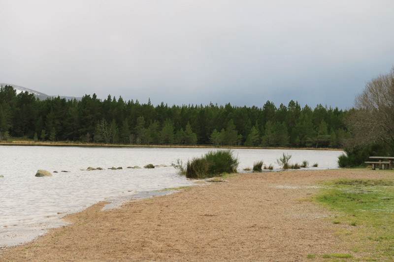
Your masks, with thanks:
M393 171L248 173L213 181L115 209L100 211L105 203L95 204L68 215L71 225L3 250L0 260L389 261L394 257Z

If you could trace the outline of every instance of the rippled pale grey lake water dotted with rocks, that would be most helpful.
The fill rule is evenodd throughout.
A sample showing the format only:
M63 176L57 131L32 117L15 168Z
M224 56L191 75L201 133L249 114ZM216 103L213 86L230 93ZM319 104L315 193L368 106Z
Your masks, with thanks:
M186 162L199 157L207 148L160 147L50 147L0 146L0 246L29 241L46 229L61 226L59 217L81 211L99 201L119 203L150 196L164 188L193 185L195 180L178 175L171 167L176 159ZM318 169L337 168L342 151L234 149L239 171L263 160L275 164L282 153L292 154L290 162L319 163ZM127 169L146 164L155 169ZM88 167L104 170L81 171ZM122 170L108 170L122 167ZM52 177L35 177L38 169ZM58 171L59 173L53 173ZM67 173L61 171L68 171ZM151 192L151 193L148 193Z

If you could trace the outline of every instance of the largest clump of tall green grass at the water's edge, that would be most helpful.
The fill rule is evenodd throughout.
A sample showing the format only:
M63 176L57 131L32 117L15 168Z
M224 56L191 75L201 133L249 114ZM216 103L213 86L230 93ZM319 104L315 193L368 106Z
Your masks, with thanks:
M188 178L212 177L225 173L235 173L239 165L238 158L232 155L232 150L208 151L200 158L188 160L186 165L177 161L172 166L179 170L180 174Z

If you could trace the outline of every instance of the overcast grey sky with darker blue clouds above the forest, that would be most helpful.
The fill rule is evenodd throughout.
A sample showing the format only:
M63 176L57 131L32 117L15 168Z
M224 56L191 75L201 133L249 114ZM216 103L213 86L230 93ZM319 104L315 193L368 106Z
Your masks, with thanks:
M350 108L394 65L393 0L0 0L0 83L154 105Z

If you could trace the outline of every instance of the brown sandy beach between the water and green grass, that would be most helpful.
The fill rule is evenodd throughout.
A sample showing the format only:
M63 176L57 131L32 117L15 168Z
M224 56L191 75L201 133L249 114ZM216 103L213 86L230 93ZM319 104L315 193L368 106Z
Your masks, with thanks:
M243 174L228 182L100 211L67 216L72 225L9 248L0 261L308 261L341 250L323 219L333 214L308 201L319 180L382 178L393 173L325 170ZM362 254L354 254L362 256Z

